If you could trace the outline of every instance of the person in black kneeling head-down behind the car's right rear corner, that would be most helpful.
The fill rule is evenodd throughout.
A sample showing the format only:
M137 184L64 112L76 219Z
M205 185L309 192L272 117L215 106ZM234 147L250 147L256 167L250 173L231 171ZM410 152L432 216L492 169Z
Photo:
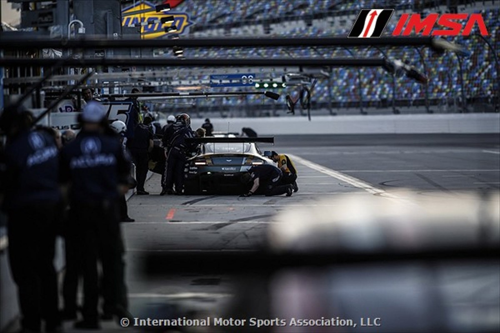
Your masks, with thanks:
M241 175L241 181L244 184L252 183L252 187L246 194L241 194L240 197L249 197L255 194L257 190L266 196L284 193L286 193L286 196L290 196L293 191L292 186L279 185L281 176L281 170L273 165L263 164L251 167Z

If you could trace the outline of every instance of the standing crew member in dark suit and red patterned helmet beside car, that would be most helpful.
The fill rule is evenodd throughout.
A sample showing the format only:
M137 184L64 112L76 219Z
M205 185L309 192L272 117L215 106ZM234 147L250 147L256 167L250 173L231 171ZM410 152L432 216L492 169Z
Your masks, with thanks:
M165 163L165 184L160 195L182 194L186 156L196 146L186 142L187 138L196 136L196 133L191 130L190 124L189 115L181 113L177 116L175 123L168 126L165 133L163 133L163 144L167 150L167 158ZM174 183L175 191L173 191Z

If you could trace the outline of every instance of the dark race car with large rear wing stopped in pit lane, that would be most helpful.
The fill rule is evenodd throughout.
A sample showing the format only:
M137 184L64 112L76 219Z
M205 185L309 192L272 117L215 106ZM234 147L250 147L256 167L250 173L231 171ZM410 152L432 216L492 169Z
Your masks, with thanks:
M198 153L184 168L184 194L241 194L247 191L240 176L254 165L274 164L270 152L261 153L256 142L274 143L274 137L192 138Z

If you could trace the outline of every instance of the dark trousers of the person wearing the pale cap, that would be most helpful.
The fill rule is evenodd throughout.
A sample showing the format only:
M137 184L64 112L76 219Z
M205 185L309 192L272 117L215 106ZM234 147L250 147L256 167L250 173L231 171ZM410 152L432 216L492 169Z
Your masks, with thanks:
M97 260L102 265L102 294L108 308L115 307L123 288L123 245L118 222L118 205L114 201L99 204L71 203L69 224L78 238L77 261L83 267L83 317L97 320L98 277Z

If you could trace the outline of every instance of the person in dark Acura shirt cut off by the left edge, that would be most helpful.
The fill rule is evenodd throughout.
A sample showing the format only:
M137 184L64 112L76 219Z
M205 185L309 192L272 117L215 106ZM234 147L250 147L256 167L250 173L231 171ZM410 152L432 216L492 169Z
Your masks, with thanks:
M53 266L60 191L54 137L31 128L29 111L6 108L0 118L7 134L5 171L0 179L8 216L8 255L17 285L21 331L59 325L57 279Z

